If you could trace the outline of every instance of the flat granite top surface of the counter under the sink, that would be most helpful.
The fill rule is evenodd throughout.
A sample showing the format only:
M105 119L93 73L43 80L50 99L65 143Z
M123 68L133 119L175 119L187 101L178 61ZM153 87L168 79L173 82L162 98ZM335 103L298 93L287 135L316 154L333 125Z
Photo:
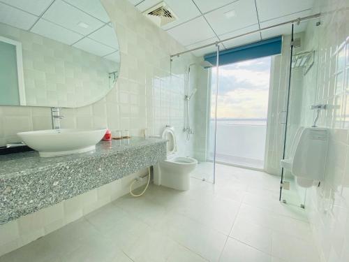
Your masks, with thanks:
M6 154L0 156L0 180L1 178L27 175L38 170L48 170L61 164L67 166L77 161L96 159L110 154L120 154L125 152L125 150L135 150L154 143L165 143L165 140L161 138L133 137L130 139L101 141L96 145L95 151L61 157L40 157L36 151Z

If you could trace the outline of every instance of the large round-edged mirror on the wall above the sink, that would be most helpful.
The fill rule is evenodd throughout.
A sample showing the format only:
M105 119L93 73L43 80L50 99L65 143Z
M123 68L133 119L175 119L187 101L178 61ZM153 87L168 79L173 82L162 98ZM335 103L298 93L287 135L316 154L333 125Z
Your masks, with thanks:
M89 105L114 87L119 67L99 0L0 1L0 105Z

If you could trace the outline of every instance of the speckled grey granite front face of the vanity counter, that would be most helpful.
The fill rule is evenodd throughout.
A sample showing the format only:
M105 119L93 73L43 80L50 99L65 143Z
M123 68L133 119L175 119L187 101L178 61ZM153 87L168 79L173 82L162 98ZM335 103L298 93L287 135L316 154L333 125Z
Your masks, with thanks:
M133 142L129 147L120 147L120 150L106 154L34 168L33 172L20 172L17 177L0 178L0 225L119 180L166 159L166 140Z

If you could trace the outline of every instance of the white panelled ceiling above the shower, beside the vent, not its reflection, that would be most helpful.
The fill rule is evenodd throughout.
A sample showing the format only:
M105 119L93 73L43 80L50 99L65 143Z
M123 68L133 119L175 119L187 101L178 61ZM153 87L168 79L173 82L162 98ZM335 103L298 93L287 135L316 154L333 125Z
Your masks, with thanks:
M129 0L138 10L145 10L161 0ZM232 36L279 24L315 13L316 0L165 0L177 20L162 28L168 31L186 48L198 48ZM304 31L306 23L295 27L295 32ZM281 34L290 34L290 25L276 27L260 33L223 43L227 49ZM197 50L197 55L214 51L214 47Z

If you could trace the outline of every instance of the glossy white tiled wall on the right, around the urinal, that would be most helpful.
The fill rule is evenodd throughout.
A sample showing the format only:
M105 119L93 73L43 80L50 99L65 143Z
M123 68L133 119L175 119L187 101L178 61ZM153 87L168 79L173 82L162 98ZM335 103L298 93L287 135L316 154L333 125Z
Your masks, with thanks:
M306 207L313 228L313 235L325 261L348 260L345 250L349 249L349 165L348 128L346 118L348 78L349 28L348 1L330 0L316 3L322 17L320 27L309 23L305 32L306 50L318 50L319 71L304 76L302 103L302 125L309 126L313 115L309 106L327 103L327 112L322 112L319 125L329 128L329 148L325 181L320 187L308 190Z

